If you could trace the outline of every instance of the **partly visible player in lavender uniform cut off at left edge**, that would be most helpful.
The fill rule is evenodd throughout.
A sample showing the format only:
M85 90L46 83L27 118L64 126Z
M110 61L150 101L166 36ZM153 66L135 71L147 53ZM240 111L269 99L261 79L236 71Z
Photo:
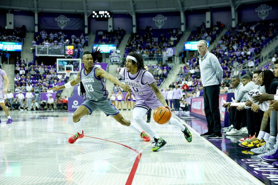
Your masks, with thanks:
M6 87L4 89L4 80L6 81ZM4 93L7 92L8 90L8 85L9 85L9 79L8 76L6 75L6 72L3 69L0 69L0 106L8 116L8 121L7 124L12 123L12 118L10 116L9 110L5 105L5 99L4 99ZM1 123L1 120L0 120Z

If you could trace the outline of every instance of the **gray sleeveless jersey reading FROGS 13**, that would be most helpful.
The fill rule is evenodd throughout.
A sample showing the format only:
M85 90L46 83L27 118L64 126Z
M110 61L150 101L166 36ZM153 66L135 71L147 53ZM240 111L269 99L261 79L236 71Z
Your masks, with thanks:
M108 91L103 78L96 77L95 69L96 66L93 66L92 71L87 75L85 74L85 69L81 69L80 79L85 88L87 99L98 101L107 97Z

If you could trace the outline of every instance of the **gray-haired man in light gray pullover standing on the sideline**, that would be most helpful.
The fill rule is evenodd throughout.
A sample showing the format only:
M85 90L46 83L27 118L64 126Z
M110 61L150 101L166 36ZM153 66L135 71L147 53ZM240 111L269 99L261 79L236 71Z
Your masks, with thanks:
M211 139L222 138L219 93L223 70L217 57L208 51L205 40L200 40L197 44L197 48L200 53L198 58L204 87L204 110L208 127L208 132L201 134L201 136Z

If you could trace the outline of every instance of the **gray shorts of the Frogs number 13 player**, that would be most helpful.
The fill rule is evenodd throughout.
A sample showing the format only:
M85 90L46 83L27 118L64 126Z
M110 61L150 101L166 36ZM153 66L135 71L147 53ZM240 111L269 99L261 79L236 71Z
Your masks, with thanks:
M105 98L97 102L86 99L81 105L87 108L88 114L92 114L95 110L104 112L106 116L113 116L120 113L119 110L111 103L109 98Z

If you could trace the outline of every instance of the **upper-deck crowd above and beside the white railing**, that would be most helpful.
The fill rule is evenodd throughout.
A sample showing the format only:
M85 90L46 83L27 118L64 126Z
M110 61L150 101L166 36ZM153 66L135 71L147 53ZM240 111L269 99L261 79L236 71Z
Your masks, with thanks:
M88 46L89 36L78 31L48 30L42 29L41 32L34 35L32 41L33 52L37 45L64 47L65 45L74 45L74 58L81 58L84 52L84 46Z

